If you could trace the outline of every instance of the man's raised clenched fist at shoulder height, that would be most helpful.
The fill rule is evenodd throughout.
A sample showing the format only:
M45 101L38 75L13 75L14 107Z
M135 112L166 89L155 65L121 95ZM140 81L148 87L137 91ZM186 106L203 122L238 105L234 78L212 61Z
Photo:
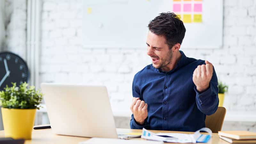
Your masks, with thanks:
M212 79L213 66L212 63L205 60L205 65L199 65L193 73L193 82L198 92L206 90Z

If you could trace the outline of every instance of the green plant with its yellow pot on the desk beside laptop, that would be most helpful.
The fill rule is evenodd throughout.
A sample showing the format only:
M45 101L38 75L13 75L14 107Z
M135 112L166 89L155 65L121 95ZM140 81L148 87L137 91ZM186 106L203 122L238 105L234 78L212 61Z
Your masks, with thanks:
M35 90L35 86L22 83L19 87L4 88L0 92L0 105L5 137L31 140L32 129L43 94Z

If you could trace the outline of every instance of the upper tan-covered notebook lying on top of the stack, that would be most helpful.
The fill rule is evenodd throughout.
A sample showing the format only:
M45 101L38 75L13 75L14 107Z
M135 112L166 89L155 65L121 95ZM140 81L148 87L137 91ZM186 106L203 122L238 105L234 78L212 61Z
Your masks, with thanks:
M236 140L256 139L256 133L248 131L219 131L219 135Z

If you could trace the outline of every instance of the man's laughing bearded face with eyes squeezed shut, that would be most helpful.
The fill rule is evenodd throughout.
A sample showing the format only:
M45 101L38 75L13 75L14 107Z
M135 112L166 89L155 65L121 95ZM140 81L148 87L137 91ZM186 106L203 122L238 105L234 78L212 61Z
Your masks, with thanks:
M160 68L161 70L166 69L165 67L170 64L172 60L172 49L169 49L169 46L166 44L165 37L157 36L149 31L147 45L147 54L152 59L153 67Z

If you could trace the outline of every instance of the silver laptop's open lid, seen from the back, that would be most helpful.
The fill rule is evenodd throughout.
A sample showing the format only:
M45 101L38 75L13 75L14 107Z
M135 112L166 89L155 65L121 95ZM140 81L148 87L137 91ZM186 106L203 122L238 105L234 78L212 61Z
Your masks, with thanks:
M55 134L117 138L105 86L41 84Z

